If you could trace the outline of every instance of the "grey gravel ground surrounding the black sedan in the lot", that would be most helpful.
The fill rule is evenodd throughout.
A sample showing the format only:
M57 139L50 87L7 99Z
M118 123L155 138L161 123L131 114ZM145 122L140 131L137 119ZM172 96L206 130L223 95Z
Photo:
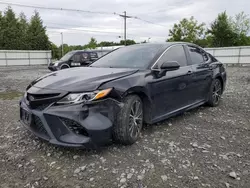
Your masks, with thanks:
M43 142L18 122L18 100L46 67L0 68L0 187L250 187L250 68L228 68L219 107L145 126L132 146Z

